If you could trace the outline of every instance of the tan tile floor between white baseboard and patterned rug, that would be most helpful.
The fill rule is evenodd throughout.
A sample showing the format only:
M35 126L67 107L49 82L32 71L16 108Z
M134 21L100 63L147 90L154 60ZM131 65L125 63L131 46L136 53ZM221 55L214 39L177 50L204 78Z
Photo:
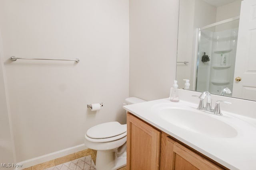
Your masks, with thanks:
M44 162L42 164L37 164L34 166L30 166L28 168L25 168L23 170L44 170L46 168L50 168L52 166L56 166L59 164L63 164L65 162L69 162L78 158L81 158L83 156L88 156L91 155L92 156L92 160L94 161L94 163L96 162L96 155L97 155L97 151L96 150L92 150L92 149L86 149L86 150L82 150L73 154L69 154L60 158L56 158L54 160L50 160L48 162ZM123 168L120 168L119 170L126 170L126 166Z

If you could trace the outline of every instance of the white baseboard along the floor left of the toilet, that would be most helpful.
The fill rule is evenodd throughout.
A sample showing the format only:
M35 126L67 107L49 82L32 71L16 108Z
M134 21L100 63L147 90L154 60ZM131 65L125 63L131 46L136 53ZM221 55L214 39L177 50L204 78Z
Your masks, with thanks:
M75 152L78 152L78 151L84 150L84 149L88 149L88 148L84 144L81 144L81 145L77 145L77 146L70 147L70 148L67 148L67 149L52 152L50 154L45 154L45 155L42 155L42 156L38 156L36 158L32 158L32 159L28 159L28 160L25 160L25 161L22 161L22 162L18 162L17 164L22 164L22 168L16 168L15 170L22 170L24 168L28 168L28 167L34 166L36 164L41 164L41 163L47 162L49 160L60 158L62 156L66 156L68 154L72 154L72 153L75 153Z

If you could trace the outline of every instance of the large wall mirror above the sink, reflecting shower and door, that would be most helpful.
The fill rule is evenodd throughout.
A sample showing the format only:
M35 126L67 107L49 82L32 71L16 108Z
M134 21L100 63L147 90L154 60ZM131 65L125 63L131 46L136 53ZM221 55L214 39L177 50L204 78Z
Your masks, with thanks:
M179 88L256 101L256 1L180 0Z

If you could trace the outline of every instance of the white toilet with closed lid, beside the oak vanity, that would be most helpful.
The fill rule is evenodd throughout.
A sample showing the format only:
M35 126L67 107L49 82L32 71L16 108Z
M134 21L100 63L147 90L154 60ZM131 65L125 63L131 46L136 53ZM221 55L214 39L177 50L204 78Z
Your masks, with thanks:
M146 102L131 97L126 104ZM85 146L97 150L97 170L117 170L126 166L126 128L117 121L102 123L91 127L85 134Z

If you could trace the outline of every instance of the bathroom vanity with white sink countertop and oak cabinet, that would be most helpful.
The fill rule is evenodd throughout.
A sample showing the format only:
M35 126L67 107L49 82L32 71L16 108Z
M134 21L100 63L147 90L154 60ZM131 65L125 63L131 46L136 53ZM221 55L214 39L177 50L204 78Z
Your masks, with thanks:
M186 93L189 95L180 95L186 101L178 103L166 98L124 106L127 168L256 169L256 119L249 111L255 102L212 95L213 105L224 99L233 103L231 107L221 105L223 115L218 116L196 109L198 98L192 96L198 92ZM247 109L239 109L241 106ZM244 112L239 115L234 110Z

